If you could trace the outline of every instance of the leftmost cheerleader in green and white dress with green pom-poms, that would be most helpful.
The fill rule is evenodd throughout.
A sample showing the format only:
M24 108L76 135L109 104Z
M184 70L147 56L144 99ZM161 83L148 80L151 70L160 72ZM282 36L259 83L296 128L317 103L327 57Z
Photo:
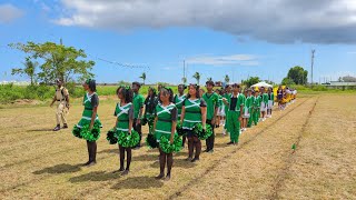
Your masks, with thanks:
M78 124L75 126L72 133L87 140L89 160L83 166L93 166L97 163L97 140L100 137L101 122L98 118L99 98L96 93L96 81L88 79L83 84L87 93L83 97L82 104L85 110Z

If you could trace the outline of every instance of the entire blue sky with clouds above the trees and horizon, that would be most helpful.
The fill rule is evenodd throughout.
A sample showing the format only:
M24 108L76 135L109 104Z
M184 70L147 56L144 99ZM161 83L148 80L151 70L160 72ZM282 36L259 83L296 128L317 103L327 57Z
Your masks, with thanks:
M290 67L310 71L312 49L315 82L356 76L356 3L289 2L0 0L0 80L26 80L11 76L26 54L8 43L60 38L96 61L98 82L136 81L146 72L148 83L179 83L185 60L188 82L198 71L201 82L229 74L233 82L258 76L278 83Z

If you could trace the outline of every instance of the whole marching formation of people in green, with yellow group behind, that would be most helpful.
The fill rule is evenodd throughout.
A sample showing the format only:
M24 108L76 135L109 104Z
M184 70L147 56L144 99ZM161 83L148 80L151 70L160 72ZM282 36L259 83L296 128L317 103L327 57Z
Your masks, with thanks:
M174 166L174 154L188 146L187 161L200 159L201 141L205 140L205 152L212 153L215 129L224 128L222 134L229 134L227 144L237 146L239 137L248 128L257 126L273 116L275 101L284 110L295 101L296 90L279 87L275 99L273 88L245 88L234 83L214 89L212 81L206 82L206 92L198 84L179 84L178 93L169 87L149 88L147 98L140 93L140 83L120 86L116 94L119 102L115 107L112 129L107 132L110 144L118 144L119 169L122 176L128 174L132 160L132 149L142 143L141 126L148 126L145 139L150 149L158 149L160 171L157 179L169 180ZM72 133L87 141L89 160L85 166L96 163L97 140L102 128L97 114L99 98L96 93L96 81L83 83L87 91L83 97L83 112ZM67 124L66 124L67 126ZM125 166L126 160L126 166ZM165 176L165 169L167 172Z

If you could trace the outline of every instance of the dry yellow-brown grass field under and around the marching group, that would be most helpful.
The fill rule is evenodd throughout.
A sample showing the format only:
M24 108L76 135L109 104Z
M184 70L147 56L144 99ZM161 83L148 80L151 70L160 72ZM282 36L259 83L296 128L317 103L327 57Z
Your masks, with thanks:
M98 163L90 168L80 166L88 159L83 140L70 129L51 131L55 109L1 109L0 199L356 198L355 93L300 93L286 110L244 132L235 147L219 128L215 152L202 153L199 162L185 161L187 149L175 154L170 181L154 178L158 151L147 147L134 151L128 176L112 173L118 148L106 132L115 123L116 101L101 99L103 129ZM79 103L70 109L70 127L81 111Z

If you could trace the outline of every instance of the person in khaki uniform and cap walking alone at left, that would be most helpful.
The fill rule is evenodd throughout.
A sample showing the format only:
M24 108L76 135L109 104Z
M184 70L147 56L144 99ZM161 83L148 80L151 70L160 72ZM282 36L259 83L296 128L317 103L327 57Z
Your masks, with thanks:
M53 103L57 102L57 110L56 110L57 126L55 127L53 131L59 131L61 121L63 123L62 128L63 129L68 128L66 116L69 110L69 92L63 87L63 82L60 79L57 79L56 83L57 83L57 89L50 107L52 107Z

